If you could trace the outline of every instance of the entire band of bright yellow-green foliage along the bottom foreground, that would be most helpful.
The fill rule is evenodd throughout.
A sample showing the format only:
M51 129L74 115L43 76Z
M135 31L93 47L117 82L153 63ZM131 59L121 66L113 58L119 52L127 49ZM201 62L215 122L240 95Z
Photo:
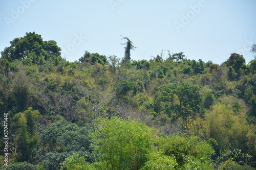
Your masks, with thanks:
M211 145L199 137L158 136L135 120L101 118L92 133L97 161L88 164L77 154L63 163L68 169L213 169Z

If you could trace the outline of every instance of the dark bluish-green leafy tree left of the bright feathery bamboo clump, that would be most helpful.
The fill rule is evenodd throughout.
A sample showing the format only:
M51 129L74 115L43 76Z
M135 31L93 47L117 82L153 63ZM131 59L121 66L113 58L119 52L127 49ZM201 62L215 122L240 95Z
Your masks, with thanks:
M74 153L88 162L94 161L89 136L92 131L93 124L83 124L83 127L79 127L63 118L44 129L40 135L40 142L45 153L41 156L45 169L60 169L61 163Z

